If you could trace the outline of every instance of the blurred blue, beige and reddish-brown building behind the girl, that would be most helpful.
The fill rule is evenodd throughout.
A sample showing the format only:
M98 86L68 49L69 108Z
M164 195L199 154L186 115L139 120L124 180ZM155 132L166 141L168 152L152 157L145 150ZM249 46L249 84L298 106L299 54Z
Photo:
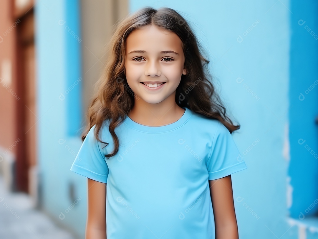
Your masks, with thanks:
M87 179L70 167L113 26L142 7L166 6L193 27L241 125L233 138L248 169L232 175L240 237L318 238L317 5L0 1L3 186L27 194L32 207L84 238ZM0 195L0 207L7 204ZM6 208L1 220L14 210Z

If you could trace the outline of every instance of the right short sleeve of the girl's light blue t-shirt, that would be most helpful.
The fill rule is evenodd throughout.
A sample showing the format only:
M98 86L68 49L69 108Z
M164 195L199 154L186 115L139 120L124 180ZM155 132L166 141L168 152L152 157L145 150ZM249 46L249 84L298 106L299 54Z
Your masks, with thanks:
M220 121L213 137L211 154L207 159L206 167L209 180L223 178L247 168L231 133Z

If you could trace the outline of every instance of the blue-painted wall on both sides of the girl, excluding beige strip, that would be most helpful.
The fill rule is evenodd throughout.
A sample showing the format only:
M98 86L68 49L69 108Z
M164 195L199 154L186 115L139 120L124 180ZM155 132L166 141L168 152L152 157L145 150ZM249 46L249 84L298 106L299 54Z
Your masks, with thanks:
M318 33L317 3L132 0L129 5L130 12L144 6L180 11L206 50L227 113L241 125L233 138L248 169L232 175L240 238L317 236L298 226L298 221L317 225L316 220L289 218L317 198L317 159L306 149L307 144L318 152L317 86L305 93L317 80L317 39L305 28ZM38 1L35 9L43 206L84 238L87 180L69 170L82 143L80 6ZM298 24L300 19L306 22ZM306 219L315 211L305 213Z

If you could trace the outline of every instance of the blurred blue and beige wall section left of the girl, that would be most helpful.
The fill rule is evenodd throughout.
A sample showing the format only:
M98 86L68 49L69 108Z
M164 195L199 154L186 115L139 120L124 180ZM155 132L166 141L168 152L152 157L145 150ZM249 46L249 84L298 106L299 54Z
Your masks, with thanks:
M94 83L104 67L104 47L114 23L127 15L128 4L38 1L35 12L42 208L60 226L76 232L76 238L84 238L87 178L70 168L82 144Z

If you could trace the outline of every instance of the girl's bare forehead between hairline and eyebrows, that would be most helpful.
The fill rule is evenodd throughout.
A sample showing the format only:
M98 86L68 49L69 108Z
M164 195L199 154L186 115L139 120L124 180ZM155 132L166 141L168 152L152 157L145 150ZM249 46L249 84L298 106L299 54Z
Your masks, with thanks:
M182 51L182 41L174 32L147 25L134 29L126 39L126 54L135 50L154 51Z

